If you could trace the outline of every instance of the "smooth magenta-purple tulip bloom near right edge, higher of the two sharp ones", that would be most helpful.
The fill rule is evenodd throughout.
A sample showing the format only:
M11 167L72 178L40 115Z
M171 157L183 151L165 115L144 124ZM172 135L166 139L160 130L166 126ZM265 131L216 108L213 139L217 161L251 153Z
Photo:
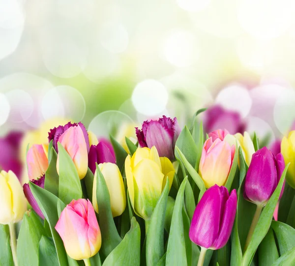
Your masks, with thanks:
M276 189L284 169L285 161L282 153L274 156L266 147L257 150L252 155L245 177L244 198L256 205L265 206ZM284 185L280 198L283 191Z

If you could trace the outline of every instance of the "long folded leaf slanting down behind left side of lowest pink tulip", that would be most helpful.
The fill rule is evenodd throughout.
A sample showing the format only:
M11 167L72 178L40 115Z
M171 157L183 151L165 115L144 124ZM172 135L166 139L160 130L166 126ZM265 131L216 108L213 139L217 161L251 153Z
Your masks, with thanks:
M54 194L50 193L49 191L29 182L30 190L40 207L44 217L46 218L47 222L49 223L51 235L53 237L53 241L57 250L58 259L59 259L59 266L67 266L67 255L63 246L63 242L55 230L55 226L59 220L57 204L59 198L56 197Z

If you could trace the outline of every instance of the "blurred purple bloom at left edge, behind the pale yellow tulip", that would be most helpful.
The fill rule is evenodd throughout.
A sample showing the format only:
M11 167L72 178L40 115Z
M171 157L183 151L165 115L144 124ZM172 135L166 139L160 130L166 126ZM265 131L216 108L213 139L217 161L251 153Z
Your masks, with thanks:
M11 170L18 178L21 177L23 169L19 150L22 137L22 132L10 132L0 138L0 169L6 172Z

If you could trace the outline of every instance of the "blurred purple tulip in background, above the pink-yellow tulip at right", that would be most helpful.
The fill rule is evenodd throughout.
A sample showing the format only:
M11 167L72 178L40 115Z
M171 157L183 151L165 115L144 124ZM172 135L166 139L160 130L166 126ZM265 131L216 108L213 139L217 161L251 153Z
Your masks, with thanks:
M205 132L226 128L230 134L243 134L246 128L238 112L226 110L220 105L213 105L204 112Z

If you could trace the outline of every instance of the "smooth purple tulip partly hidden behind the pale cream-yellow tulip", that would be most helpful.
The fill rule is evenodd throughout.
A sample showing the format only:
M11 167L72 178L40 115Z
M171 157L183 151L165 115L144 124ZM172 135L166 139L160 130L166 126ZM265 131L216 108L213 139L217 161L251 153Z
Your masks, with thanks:
M96 146L91 145L88 154L88 167L94 174L96 170L96 165L100 163L114 163L116 164L116 159L113 156L111 150L103 143L99 142Z

